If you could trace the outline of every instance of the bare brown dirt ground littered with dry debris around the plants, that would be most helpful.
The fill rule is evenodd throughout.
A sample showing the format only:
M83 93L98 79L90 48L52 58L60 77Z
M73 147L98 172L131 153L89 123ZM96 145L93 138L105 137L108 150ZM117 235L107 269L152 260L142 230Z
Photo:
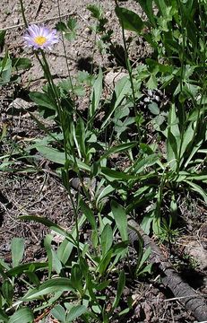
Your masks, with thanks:
M28 22L44 22L49 26L54 27L56 22L59 22L59 17L63 21L70 15L73 15L78 22L77 39L72 43L65 41L66 57L69 62L69 70L71 74L76 74L80 70L91 70L92 57L94 67L104 67L106 74L111 71L116 71L116 63L112 62L108 55L100 55L98 50L94 51L96 39L90 31L90 25L93 23L91 13L86 9L87 4L98 4L97 0L27 0L25 1L25 13ZM109 27L113 29L113 39L116 44L122 43L120 28L114 14L114 1L102 0L101 6L104 8L108 17ZM128 8L134 9L139 13L138 5L134 1L125 1L123 4ZM23 48L22 34L24 27L20 13L20 5L18 2L11 0L2 0L0 4L0 29L6 29L5 45L13 53L21 57L32 57L30 50ZM128 33L127 36L130 36ZM52 53L48 56L49 64L52 68L52 73L56 78L64 78L68 75L65 50L63 43L59 42ZM144 44L134 43L132 55L136 57L137 62L142 60L142 57L148 55L149 48ZM120 68L120 67L119 67ZM123 69L124 71L124 69ZM22 85L24 89L37 90L44 83L43 74L39 69L39 64L35 57L32 60L32 67L29 73L22 74ZM13 88L0 88L0 111L1 122L10 122L11 127L9 137L11 143L15 145L15 140L29 140L31 137L41 136L42 133L39 127L30 115L22 113L18 110L13 116L8 112L9 104L21 92L13 92ZM87 98L85 100L88 100ZM82 100L84 105L84 99ZM14 138L17 138L14 140ZM20 138L20 139L18 139ZM0 149L6 152L6 145ZM0 150L0 152L1 152ZM42 249L42 240L47 233L45 227L37 223L22 223L18 220L20 215L42 215L61 224L66 229L70 229L73 224L73 212L65 193L65 189L58 178L56 172L52 170L52 165L42 157L37 155L34 164L30 163L30 157L25 156L23 161L17 165L20 168L30 168L29 171L22 172L0 172L0 258L5 261L11 260L10 256L10 241L13 237L24 237L26 240L26 255L25 260L44 259L46 257ZM0 170L1 171L1 170ZM186 208L184 206L184 210ZM194 216L187 211L188 218L185 219L188 225L189 235L197 235L197 242L201 242L202 228L205 227L206 209L196 209L195 212L201 214L201 221L194 226ZM194 210L193 210L194 212ZM205 231L205 229L203 230ZM207 229L206 229L207 231ZM204 236L207 236L207 232ZM185 244L185 239L180 242ZM207 258L206 249L204 255ZM203 258L205 258L203 256ZM199 268L199 273L206 275L207 265L203 260L203 266ZM190 273L192 274L192 273ZM192 275L189 274L189 280ZM195 275L195 274L194 274ZM196 275L195 275L196 276ZM131 290L130 290L131 288ZM202 283L194 286L203 294L207 293L205 280ZM129 292L133 293L134 299L137 301L134 313L130 313L127 322L175 322L189 323L195 322L191 313L187 312L177 300L168 301L173 295L166 292L156 279L148 282L135 282L134 286L129 286Z

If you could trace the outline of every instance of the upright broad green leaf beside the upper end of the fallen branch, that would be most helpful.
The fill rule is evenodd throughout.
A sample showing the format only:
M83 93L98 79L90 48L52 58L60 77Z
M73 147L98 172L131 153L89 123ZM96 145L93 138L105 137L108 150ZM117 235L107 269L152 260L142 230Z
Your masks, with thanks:
M111 211L114 215L116 226L120 232L121 238L123 241L128 240L128 231L127 231L127 217L125 214L125 209L119 205L116 201L112 200L111 202Z

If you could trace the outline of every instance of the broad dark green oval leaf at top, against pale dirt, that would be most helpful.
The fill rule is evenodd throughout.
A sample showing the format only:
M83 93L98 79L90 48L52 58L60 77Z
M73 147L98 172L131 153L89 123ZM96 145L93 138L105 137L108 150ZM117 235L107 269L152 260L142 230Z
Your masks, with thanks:
M144 23L137 13L119 6L116 6L115 12L121 26L123 26L125 30L138 33L142 31Z

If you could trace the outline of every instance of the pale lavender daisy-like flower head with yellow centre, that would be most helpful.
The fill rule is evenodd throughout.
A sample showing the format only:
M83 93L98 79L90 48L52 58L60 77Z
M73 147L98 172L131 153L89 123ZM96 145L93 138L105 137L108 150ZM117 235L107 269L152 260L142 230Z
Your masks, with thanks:
M38 26L36 24L30 25L23 38L27 47L49 50L59 40L56 36L56 30L50 30L44 25Z

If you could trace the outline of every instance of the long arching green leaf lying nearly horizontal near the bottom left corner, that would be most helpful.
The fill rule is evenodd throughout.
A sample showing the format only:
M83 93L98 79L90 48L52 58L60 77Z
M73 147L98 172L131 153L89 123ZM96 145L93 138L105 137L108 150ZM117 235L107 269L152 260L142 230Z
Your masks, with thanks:
M35 300L40 296L47 295L51 292L73 292L71 280L61 277L49 279L47 282L41 284L39 288L34 288L32 291L27 292L22 300Z

